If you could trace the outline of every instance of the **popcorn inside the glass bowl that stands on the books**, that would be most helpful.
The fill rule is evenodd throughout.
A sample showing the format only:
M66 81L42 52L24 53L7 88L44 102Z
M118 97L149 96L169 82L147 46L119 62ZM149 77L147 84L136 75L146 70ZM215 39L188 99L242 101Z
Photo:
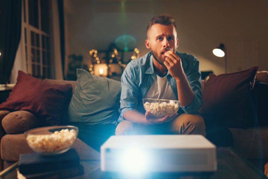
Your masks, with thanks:
M53 134L33 135L29 134L26 140L29 146L36 152L51 153L69 148L76 139L74 129L62 129Z

